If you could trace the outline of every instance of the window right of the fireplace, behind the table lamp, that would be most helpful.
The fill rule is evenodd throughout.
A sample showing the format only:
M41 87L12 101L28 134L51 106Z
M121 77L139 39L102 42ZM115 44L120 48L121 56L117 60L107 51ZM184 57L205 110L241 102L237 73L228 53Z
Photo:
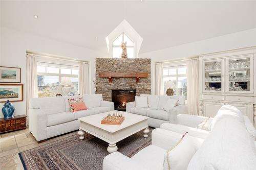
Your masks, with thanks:
M174 95L183 95L187 100L187 66L164 67L164 85L167 81L173 81L176 85ZM178 83L177 83L178 82ZM164 91L166 91L164 87Z

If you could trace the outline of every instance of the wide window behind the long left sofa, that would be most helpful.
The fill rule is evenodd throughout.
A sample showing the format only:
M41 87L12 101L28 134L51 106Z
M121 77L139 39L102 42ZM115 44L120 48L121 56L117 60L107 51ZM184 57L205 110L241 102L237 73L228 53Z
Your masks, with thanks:
M37 63L38 98L78 94L78 67Z

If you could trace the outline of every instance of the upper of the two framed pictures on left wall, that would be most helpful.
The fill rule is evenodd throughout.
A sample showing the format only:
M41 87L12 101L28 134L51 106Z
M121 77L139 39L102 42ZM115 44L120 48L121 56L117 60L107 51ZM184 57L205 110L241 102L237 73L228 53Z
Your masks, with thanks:
M20 68L0 66L0 83L20 83Z

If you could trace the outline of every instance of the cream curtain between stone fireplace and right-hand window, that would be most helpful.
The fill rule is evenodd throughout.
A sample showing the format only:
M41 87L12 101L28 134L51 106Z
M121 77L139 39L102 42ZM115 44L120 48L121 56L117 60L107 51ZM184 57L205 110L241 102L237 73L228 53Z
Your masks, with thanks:
M163 64L156 64L156 95L164 95L163 91Z

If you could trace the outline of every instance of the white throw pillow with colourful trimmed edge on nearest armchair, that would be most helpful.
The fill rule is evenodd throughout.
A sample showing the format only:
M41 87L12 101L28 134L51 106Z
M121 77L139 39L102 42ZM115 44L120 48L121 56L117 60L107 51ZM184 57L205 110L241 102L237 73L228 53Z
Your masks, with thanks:
M186 170L189 161L196 153L193 139L186 132L181 140L164 155L164 170Z

